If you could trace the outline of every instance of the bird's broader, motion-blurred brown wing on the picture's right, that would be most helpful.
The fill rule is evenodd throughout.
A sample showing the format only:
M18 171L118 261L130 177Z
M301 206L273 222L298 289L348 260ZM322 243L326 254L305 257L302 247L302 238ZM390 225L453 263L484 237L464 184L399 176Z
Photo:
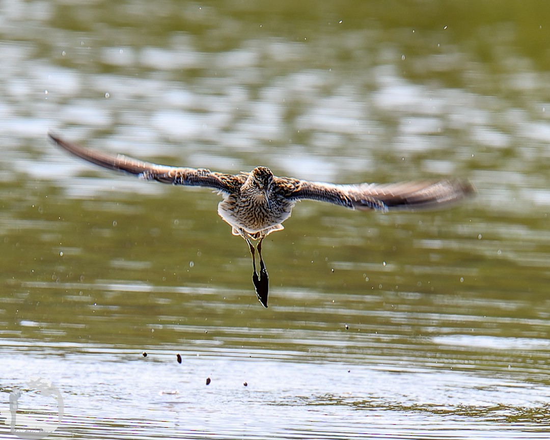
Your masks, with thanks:
M438 180L392 184L334 185L279 178L289 200L318 200L357 210L429 208L449 204L475 192L467 180Z

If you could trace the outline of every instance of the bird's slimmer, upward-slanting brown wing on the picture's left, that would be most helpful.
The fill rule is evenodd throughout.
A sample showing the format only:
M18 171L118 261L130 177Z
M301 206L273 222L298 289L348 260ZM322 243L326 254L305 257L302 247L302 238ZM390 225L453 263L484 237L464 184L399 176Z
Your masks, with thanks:
M170 167L142 162L128 156L111 155L86 149L65 141L52 133L48 133L48 136L62 149L88 162L95 163L103 168L134 174L143 179L157 180L158 182L174 185L205 186L223 193L233 193L235 186L239 184L239 176L233 174L216 173L205 168Z

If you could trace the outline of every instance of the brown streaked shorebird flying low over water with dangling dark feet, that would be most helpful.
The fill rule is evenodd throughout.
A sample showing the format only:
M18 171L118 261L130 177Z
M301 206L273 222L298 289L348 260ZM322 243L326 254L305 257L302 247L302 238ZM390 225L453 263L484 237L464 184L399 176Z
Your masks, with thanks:
M223 196L218 214L248 243L252 255L252 282L260 303L267 307L269 277L262 258L262 241L267 235L282 230L292 208L300 200L317 200L351 210L387 212L394 208L430 208L452 202L474 193L467 180L425 180L391 184L359 183L337 185L309 182L291 177L277 177L267 167L251 172L224 174L206 168L172 167L143 162L128 156L83 148L48 133L62 149L103 168L134 174L145 180L186 186L204 186ZM258 240L256 249L252 240ZM256 272L258 252L260 273Z

